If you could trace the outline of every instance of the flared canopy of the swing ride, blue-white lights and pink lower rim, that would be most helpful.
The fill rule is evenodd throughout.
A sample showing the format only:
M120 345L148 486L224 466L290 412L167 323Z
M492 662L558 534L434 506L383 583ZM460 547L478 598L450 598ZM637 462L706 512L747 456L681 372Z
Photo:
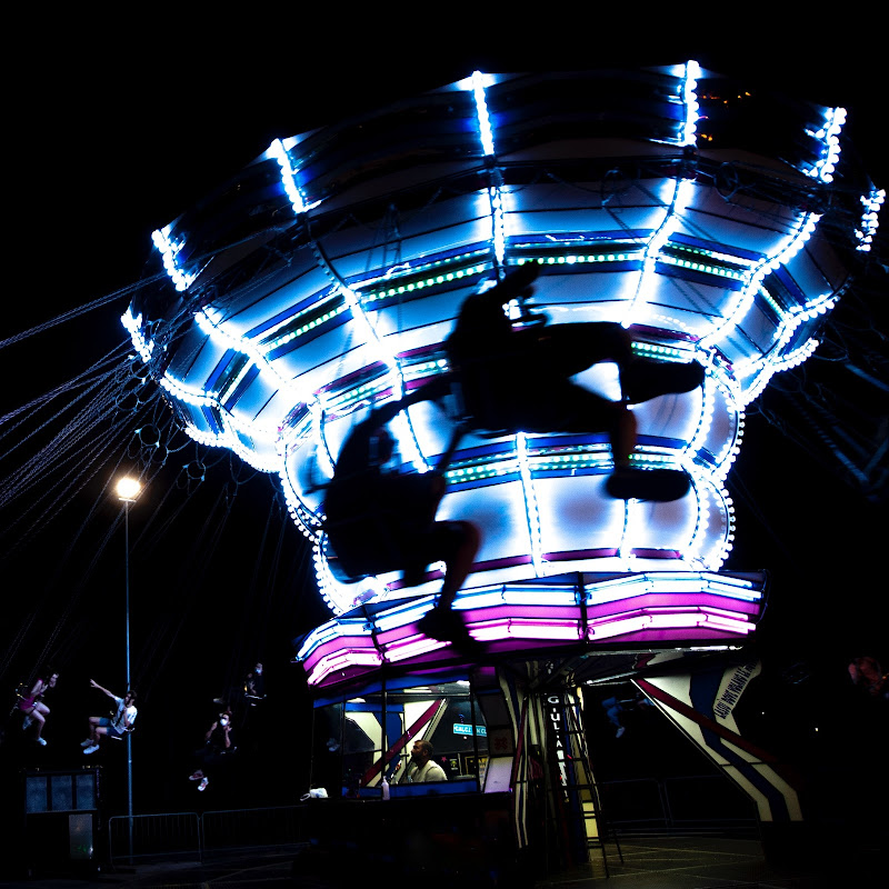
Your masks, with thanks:
M442 341L463 299L523 262L541 266L533 308L551 322L619 321L641 351L705 364L701 389L635 408L638 463L693 483L676 502L613 500L603 434L467 436L439 515L482 530L458 600L468 615L478 606L473 635L749 633L762 579L718 573L745 406L817 347L882 202L846 161L843 121L842 109L750 94L695 62L476 73L276 140L156 232L169 280L123 318L142 359L193 438L278 475L334 615L366 602L389 616L382 636L400 630L387 655L366 618L349 630L334 619L303 655L343 633L368 665L420 651L408 605L428 608L440 575L403 592L394 573L338 579L318 486L369 406L447 370ZM580 382L619 397L613 366ZM403 467L426 471L457 418L455 403L402 412ZM323 657L319 677L346 656Z

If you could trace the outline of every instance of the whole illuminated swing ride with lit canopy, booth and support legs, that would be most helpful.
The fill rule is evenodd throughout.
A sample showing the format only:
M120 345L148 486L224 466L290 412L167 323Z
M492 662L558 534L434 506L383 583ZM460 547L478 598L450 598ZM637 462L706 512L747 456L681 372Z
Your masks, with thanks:
M559 857L581 860L600 827L583 687L622 677L761 823L805 818L732 718L758 669L745 646L767 577L723 570L736 535L725 482L746 407L818 348L876 232L885 193L847 162L845 117L693 61L477 71L276 139L154 232L168 278L126 312L132 342L192 438L277 477L313 551L330 618L294 659L329 740L316 772L328 791L508 798L519 850L539 840L535 807L558 809L570 825ZM370 408L448 372L465 299L527 263L550 323L617 322L638 354L706 373L633 408L633 466L685 473L677 500L610 497L601 432L462 438L439 518L481 529L455 602L483 652L472 662L418 630L439 566L411 587L338 569L323 483ZM620 400L613 364L577 382ZM399 469L430 471L460 419L457 398L401 411ZM397 783L417 738L441 751L447 788ZM326 752L340 757L327 772ZM551 778L543 802L536 757Z

